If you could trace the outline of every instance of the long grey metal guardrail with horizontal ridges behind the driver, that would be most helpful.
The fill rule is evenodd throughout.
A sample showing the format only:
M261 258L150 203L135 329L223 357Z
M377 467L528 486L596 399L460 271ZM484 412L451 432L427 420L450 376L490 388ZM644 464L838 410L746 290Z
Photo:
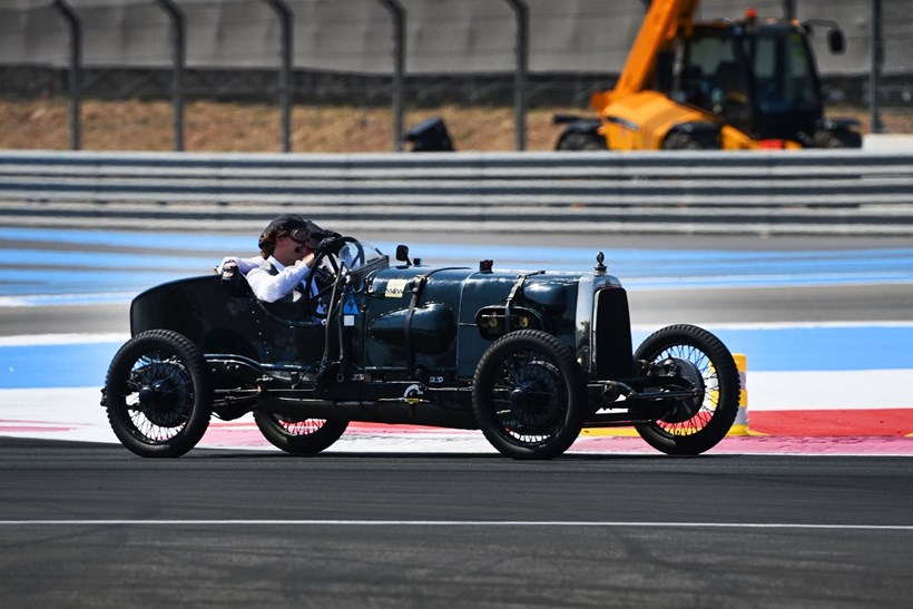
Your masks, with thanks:
M913 154L0 153L0 224L913 235Z

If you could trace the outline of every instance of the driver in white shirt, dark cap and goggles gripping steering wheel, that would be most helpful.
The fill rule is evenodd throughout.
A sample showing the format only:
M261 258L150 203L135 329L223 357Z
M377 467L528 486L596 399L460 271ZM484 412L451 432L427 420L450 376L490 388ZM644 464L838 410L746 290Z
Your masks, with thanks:
M263 302L297 302L304 294L295 289L307 278L315 253L324 239L334 239L338 233L324 230L297 214L283 214L271 222L259 237L261 256L223 258L216 272L226 276L240 272L254 295ZM318 291L312 283L312 294Z

